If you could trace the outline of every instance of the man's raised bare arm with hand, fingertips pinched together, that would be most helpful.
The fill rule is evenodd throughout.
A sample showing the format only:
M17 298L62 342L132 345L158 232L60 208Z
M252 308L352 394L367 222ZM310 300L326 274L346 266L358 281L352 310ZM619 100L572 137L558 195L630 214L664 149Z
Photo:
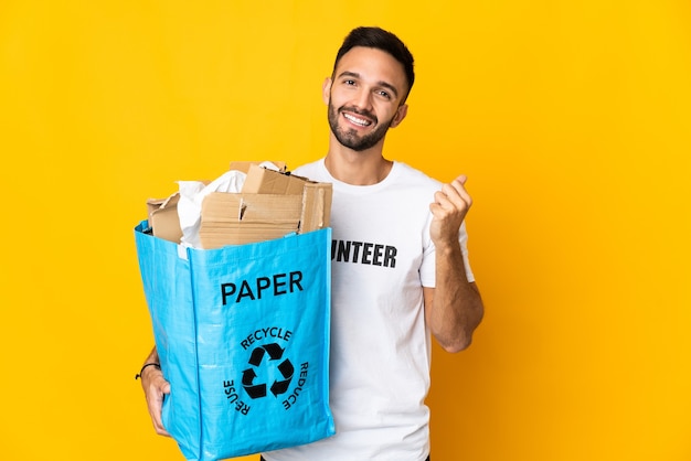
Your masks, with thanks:
M483 315L482 299L469 282L464 266L458 232L472 204L465 189L466 176L458 176L435 194L429 205L433 218L429 236L436 247L436 287L424 288L425 320L437 342L448 352L459 352L472 341L472 332Z

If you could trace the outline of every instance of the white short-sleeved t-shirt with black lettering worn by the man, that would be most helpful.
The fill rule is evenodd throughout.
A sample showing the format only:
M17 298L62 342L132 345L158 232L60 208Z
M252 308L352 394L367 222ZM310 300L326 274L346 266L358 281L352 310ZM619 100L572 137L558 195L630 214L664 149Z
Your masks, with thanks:
M422 461L429 453L424 399L430 361L422 287L435 286L429 203L440 183L400 162L366 186L334 180L323 159L295 174L333 183L329 389L336 435L264 458ZM465 225L459 238L472 281Z

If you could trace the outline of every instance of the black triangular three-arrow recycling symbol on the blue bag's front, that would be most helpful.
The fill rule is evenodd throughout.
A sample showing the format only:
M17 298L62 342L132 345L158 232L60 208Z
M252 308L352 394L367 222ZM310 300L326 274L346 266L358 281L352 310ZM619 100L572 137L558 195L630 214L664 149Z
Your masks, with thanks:
M283 358L284 349L276 343L264 344L255 347L249 355L249 365L252 367L243 371L243 387L249 397L262 398L266 397L267 383L255 383L257 378L256 369L262 367L264 357L268 355L266 361L269 366L273 362L280 361ZM283 379L275 379L269 390L274 394L274 397L278 397L280 394L285 394L293 380L293 374L295 368L288 358L284 360L277 365L278 372L283 376Z

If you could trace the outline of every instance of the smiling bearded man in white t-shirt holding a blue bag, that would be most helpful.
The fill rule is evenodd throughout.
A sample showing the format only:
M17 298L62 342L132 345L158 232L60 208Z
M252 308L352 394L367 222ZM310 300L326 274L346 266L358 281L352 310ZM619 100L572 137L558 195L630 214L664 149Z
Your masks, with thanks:
M450 184L386 160L405 119L413 56L392 33L358 28L323 84L327 156L296 174L333 183L330 406L337 433L263 454L266 461L423 461L429 457L430 334L466 349L483 307L467 260L465 176ZM432 203L430 203L432 202ZM371 248L385 249L385 257ZM384 251L384 250L382 250ZM157 362L156 350L147 364ZM157 432L160 369L141 372Z

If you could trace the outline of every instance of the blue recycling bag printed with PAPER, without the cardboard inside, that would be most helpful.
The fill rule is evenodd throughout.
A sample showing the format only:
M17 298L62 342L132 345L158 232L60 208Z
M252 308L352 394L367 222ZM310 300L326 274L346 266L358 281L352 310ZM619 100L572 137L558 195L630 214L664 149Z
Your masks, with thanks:
M217 249L135 239L161 369L163 426L188 460L334 433L329 409L331 229Z

